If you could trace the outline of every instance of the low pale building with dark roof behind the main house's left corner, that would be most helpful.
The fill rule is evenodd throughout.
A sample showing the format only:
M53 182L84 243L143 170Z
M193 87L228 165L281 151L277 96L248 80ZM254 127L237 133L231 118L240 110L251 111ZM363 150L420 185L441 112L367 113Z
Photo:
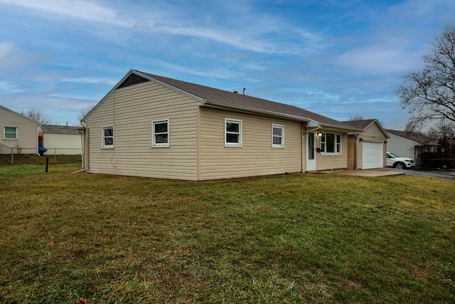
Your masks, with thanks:
M43 147L48 150L44 154L82 154L82 134L79 132L79 128L65 125L41 125Z

